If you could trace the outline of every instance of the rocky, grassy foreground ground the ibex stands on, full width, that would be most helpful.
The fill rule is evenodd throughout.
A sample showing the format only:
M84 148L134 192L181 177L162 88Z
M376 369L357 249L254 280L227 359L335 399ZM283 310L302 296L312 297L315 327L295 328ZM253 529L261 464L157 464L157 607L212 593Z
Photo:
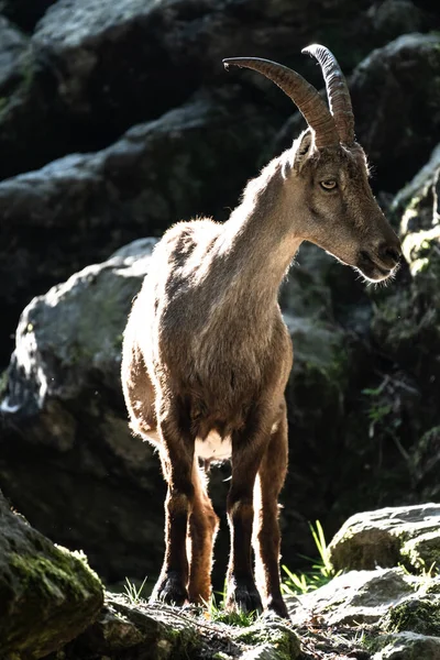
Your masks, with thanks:
M78 561L52 547L10 513L3 499L1 507L7 539L0 548L4 660L439 657L438 504L366 512L349 519L329 548L339 571L315 591L290 593L289 620L227 614L213 605L150 605L142 585L129 583L123 594L107 592L100 608L100 584L84 558ZM26 548L25 560L23 548L20 561L11 553L12 530L18 544L24 538L40 539L40 544L34 541Z

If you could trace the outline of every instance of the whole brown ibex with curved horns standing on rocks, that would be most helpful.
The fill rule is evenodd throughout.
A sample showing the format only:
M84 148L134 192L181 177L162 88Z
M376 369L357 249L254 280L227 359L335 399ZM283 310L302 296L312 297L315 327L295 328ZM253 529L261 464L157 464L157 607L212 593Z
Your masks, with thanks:
M388 277L399 260L399 241L355 142L341 69L323 46L305 52L321 65L330 110L315 87L279 64L223 61L273 80L308 128L248 184L223 224L204 218L164 234L125 329L122 383L131 428L157 448L168 486L165 559L153 601L209 601L218 517L205 470L231 459L227 608L261 610L263 601L287 616L277 501L287 468L284 391L293 349L278 288L302 241L370 282Z

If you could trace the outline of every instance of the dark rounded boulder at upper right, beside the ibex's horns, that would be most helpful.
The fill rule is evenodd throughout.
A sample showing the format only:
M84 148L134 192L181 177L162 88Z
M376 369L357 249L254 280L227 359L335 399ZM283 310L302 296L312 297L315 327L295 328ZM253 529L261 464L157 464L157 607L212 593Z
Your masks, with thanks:
M398 188L440 140L440 36L405 34L373 51L355 69L350 91L356 134L382 189Z

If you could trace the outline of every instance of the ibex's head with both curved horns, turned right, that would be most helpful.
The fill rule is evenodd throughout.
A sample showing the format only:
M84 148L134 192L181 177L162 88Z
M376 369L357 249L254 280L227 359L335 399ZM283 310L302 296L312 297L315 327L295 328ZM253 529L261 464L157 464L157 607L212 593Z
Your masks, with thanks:
M302 52L321 65L330 110L315 87L280 64L256 57L229 58L223 64L252 68L273 80L308 123L285 154L285 202L295 209L296 234L366 279L380 282L398 263L399 240L370 187L366 157L355 142L350 94L338 62L317 44Z

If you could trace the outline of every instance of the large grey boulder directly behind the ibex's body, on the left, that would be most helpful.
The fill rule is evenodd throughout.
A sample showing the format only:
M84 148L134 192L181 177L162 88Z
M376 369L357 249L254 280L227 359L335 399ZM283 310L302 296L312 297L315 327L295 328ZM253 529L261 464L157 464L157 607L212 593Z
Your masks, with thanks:
M163 553L163 480L130 435L119 377L151 249L136 242L31 302L3 402L4 491L47 536L87 549L110 582L155 575Z

